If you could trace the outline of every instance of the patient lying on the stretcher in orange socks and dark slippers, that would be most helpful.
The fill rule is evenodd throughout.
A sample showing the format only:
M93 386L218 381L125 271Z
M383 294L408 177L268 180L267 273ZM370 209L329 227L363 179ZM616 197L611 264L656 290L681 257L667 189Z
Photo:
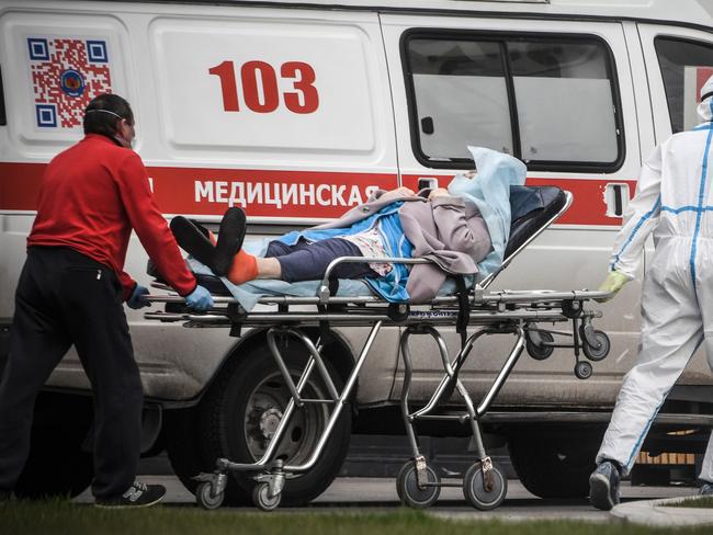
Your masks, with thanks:
M341 263L332 272L338 278L363 278L389 301L427 301L438 294L448 274L477 273L478 262L493 252L494 244L501 244L497 229L498 243L493 242L490 227L509 228L509 185L524 181L524 166L514 158L473 150L478 150L474 158L479 173L456 175L448 190L434 189L427 196L408 187L376 192L335 221L271 241L262 255L241 249L246 220L239 208L226 212L217 239L181 216L171 221L171 229L184 250L236 285L254 278L320 280L330 262L341 257L429 259L430 263L410 269L403 263ZM503 161L506 169L516 166L518 172L503 173ZM479 177L484 172L486 180ZM497 175L495 182L490 175ZM490 203L484 204L488 196ZM495 216L487 214L486 223L480 208L491 210L491 205L500 209Z

